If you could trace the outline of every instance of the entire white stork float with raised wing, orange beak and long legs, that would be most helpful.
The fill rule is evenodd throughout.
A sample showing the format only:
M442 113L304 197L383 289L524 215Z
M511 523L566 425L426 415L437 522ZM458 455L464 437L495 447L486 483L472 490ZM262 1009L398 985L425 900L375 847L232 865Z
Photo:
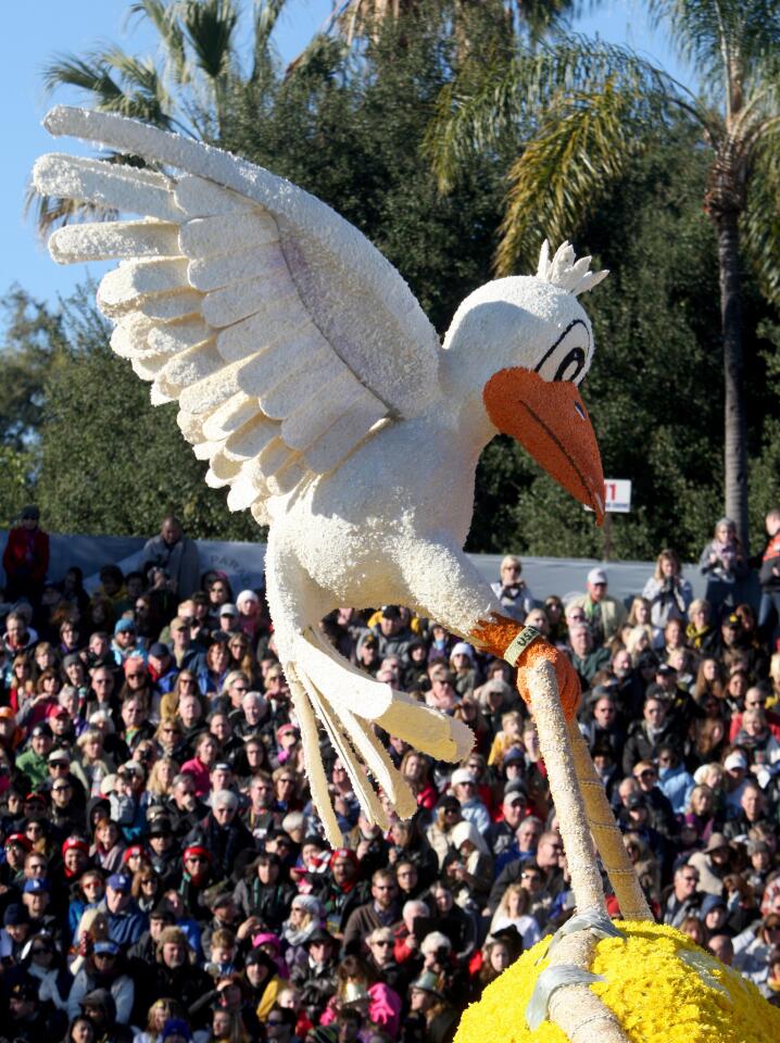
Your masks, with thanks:
M573 1041L644 1041L590 985L599 940L625 937L606 916L591 834L624 917L651 917L573 720L576 675L500 615L462 552L477 461L499 431L601 519L601 461L579 392L593 334L577 297L606 273L568 244L551 260L545 243L536 276L471 293L442 345L392 265L289 181L121 116L56 108L46 126L149 164L41 158L39 192L140 215L61 228L49 247L61 263L119 261L98 291L114 351L152 381L154 403L178 402L181 431L209 461L206 481L229 487L230 508L271 525L268 603L328 840L341 835L318 724L383 828L375 787L404 817L416 803L375 726L452 762L473 737L356 670L318 620L339 605L400 603L506 657L537 720L577 900L512 1038L537 1038L531 1026L554 1028L549 1018ZM502 1041L493 1028L481 1019L486 1040Z

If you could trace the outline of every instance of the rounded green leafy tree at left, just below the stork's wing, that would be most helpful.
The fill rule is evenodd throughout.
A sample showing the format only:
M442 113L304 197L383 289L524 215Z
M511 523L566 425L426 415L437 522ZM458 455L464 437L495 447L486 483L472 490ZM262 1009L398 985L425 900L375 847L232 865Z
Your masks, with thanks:
M93 289L93 288L92 288ZM109 348L109 327L84 290L52 316L43 384L36 495L61 532L148 536L175 511L197 537L257 539L248 514L230 515L209 489L176 424L176 406L152 407L149 389Z

